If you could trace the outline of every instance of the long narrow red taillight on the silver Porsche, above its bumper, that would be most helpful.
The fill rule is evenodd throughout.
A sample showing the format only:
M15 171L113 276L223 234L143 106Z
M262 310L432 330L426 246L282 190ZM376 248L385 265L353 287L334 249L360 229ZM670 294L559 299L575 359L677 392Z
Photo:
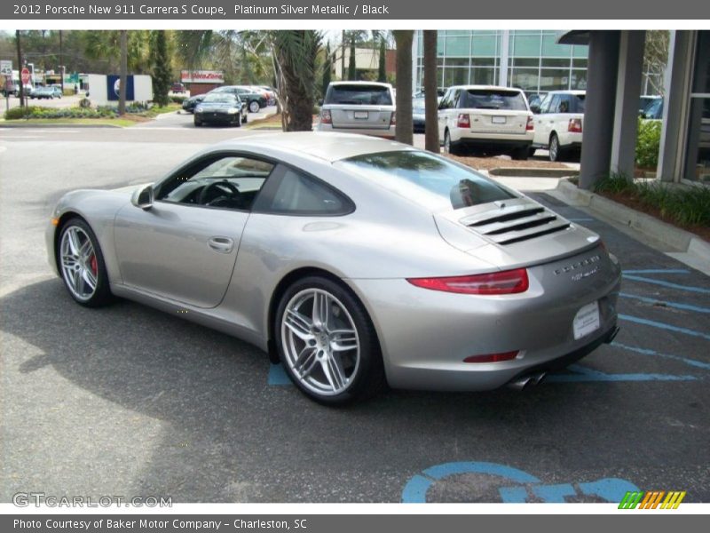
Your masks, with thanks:
M517 294L530 287L525 268L491 274L457 275L454 277L407 278L416 287L459 294Z

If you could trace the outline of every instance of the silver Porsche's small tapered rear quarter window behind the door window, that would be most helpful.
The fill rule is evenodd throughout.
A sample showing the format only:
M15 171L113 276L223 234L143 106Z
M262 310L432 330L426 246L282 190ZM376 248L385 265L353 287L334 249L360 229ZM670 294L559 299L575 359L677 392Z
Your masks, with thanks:
M293 215L344 215L351 201L319 179L280 165L255 211Z

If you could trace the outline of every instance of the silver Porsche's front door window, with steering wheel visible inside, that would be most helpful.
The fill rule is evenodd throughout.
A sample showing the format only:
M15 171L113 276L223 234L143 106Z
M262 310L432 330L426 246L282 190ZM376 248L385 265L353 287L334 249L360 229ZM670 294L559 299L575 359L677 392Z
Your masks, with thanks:
M248 211L273 167L244 155L212 155L165 179L155 199Z

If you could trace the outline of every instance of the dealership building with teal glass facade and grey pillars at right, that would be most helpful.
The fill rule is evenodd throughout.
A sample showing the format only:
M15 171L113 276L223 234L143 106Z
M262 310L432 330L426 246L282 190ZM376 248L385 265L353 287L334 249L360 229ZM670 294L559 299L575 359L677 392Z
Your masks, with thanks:
M414 39L414 91L423 86L422 31ZM710 183L710 31L670 32L663 80L643 72L641 30L445 30L438 32L438 86L496 84L528 93L587 91L580 186L634 175L639 96L664 87L657 175ZM652 83L650 83L652 82Z

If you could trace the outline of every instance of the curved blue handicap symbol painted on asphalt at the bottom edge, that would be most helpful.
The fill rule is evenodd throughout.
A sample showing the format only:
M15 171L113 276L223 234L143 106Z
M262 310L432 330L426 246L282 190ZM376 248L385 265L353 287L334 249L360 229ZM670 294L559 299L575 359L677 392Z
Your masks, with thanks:
M564 503L568 498L595 497L618 503L627 491L639 490L634 483L620 478L602 478L596 481L546 484L531 473L509 465L486 462L457 462L435 465L414 475L402 491L403 503L426 503L427 492L438 482L446 482L449 476L476 473L490 475L499 481L513 481L500 487L498 494L503 503Z

